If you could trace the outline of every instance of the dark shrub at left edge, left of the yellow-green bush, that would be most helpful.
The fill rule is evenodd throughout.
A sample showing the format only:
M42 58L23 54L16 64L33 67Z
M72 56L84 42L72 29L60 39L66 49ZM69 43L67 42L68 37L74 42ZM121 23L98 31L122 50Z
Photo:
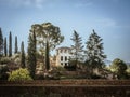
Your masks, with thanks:
M6 65L0 65L0 80L8 80L9 68Z

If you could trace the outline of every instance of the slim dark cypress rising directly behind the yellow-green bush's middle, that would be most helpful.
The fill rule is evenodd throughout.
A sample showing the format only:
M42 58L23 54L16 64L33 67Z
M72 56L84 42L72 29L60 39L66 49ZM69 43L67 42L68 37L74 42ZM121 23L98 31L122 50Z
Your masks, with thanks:
M24 51L24 42L21 44L21 67L25 68L25 51Z

